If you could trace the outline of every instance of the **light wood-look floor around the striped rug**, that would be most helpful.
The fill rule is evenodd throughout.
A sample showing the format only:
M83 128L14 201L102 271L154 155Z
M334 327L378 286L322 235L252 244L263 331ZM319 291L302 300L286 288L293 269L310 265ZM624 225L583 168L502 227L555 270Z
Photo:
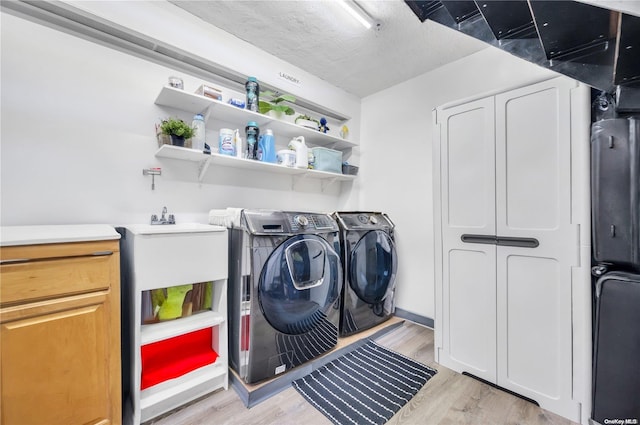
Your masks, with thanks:
M394 351L438 370L389 425L571 425L518 397L453 372L434 362L433 331L405 322L376 340ZM289 388L247 409L233 389L219 391L153 425L328 425L330 422L296 390Z

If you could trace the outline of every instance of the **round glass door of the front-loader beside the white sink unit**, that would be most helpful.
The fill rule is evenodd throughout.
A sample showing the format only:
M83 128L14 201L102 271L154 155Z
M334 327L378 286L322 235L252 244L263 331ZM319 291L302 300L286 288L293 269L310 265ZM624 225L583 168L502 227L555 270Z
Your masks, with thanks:
M341 282L340 257L326 240L294 236L273 251L260 273L260 308L278 331L306 333L326 320Z

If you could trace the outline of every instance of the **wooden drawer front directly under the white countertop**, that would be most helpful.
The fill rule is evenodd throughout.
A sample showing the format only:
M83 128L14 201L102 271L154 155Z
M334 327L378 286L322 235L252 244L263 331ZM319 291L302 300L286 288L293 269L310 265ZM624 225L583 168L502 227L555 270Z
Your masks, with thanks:
M0 303L9 304L108 289L112 255L3 264Z

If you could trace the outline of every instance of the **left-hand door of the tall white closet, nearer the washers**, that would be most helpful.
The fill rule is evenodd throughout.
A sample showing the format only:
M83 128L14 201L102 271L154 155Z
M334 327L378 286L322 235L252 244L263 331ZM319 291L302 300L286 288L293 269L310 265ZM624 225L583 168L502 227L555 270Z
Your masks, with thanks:
M493 98L438 111L441 131L442 352L459 372L496 378L495 245L461 236L495 235Z

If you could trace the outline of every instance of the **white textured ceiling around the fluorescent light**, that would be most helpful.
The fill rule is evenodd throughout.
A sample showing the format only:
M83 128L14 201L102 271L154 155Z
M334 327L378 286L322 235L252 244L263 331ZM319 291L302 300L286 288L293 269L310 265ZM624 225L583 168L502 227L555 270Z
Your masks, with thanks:
M365 97L487 48L401 0L359 1L365 29L335 0L172 1L204 21L331 84Z

